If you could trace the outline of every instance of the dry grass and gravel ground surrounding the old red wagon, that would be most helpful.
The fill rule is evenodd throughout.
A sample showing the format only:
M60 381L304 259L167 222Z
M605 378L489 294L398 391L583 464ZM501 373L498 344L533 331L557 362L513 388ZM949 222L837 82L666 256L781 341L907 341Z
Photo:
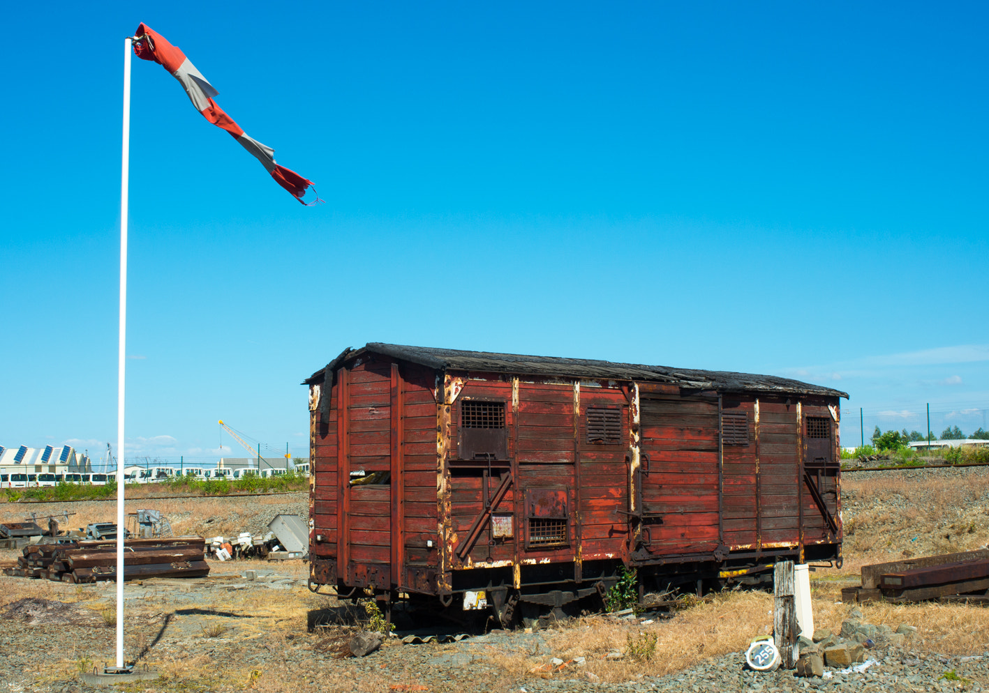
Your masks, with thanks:
M841 603L841 588L857 584L863 563L984 546L989 541L987 480L982 470L845 475L846 562L841 570L812 573L817 629L841 629L852 609ZM265 496L249 502L182 499L156 501L157 505L145 502L141 507L160 507L188 517L179 532L213 525L224 529L207 534L229 534L266 522L276 510L303 504L305 494L296 495L301 497ZM169 505L163 507L165 503ZM25 505L9 505L13 504L0 505L0 520L23 519ZM44 513L32 507L28 514L60 512L67 505L71 504ZM104 508L80 507L73 517L80 518L80 525L84 518L103 519L106 510L113 511L112 504ZM210 518L213 521L207 524ZM14 563L18 555L0 552L0 563ZM256 570L259 579L245 579L246 569ZM128 657L146 664L159 678L125 689L369 693L989 689L989 609L963 605L859 607L861 618L869 623L919 629L901 646L870 650L877 663L863 673L796 679L789 672L746 672L741 652L754 637L771 631L772 598L745 591L712 595L673 618L592 615L537 633L474 631L457 642L439 641L463 631L433 624L415 633L439 636L437 642L403 645L396 637L366 657L338 658L340 645L359 627L355 620L366 620L366 613L349 602L312 594L306 587L307 571L301 561L212 562L207 578L128 583ZM0 617L0 649L5 653L0 658L0 691L97 690L81 683L78 675L113 663L114 585L0 576L0 612L31 597L67 603L85 618L81 625L29 625ZM319 627L310 628L314 624ZM410 625L401 618L398 624ZM652 639L655 655L633 655L637 645ZM547 671L553 657L574 661L560 671Z

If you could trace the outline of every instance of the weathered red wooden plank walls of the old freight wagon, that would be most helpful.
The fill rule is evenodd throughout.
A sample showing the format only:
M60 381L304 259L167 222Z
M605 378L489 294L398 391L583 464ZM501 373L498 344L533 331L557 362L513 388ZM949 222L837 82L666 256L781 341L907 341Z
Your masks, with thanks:
M518 587L546 563L567 564L561 579L581 582L587 561L659 569L731 552L802 558L804 544L841 542L803 479L806 418L833 420L837 397L640 390L631 381L439 371L367 353L342 361L321 386L328 406L311 410L311 553L348 587L448 593L464 588L452 586L455 572L478 567L503 569L492 579ZM461 415L472 400L503 402L507 460L461 459ZM469 411L486 410L479 406ZM620 436L588 437L588 407L617 411ZM725 444L722 416L739 413L748 443ZM611 425L610 416L593 422ZM830 445L837 460L837 421ZM351 485L351 472L389 476ZM513 536L494 537L486 507L509 474L491 514L510 515ZM837 520L840 477L819 482ZM565 541L530 546L533 527L558 519L536 514L533 497L563 503Z

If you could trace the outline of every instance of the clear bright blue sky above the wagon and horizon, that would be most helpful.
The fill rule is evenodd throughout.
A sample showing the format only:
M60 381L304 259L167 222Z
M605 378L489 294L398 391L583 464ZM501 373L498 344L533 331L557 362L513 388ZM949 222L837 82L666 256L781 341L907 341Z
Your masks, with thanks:
M865 426L989 409L977 3L20 4L0 26L0 445L116 440L123 39L219 89L305 208L134 60L129 456L307 446L347 346L769 373ZM847 419L848 421L848 419Z

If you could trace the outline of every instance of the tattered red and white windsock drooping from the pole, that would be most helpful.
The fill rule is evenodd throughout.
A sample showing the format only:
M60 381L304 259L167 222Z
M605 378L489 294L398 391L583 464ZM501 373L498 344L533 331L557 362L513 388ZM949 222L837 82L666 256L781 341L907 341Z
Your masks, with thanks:
M306 195L306 190L313 186L313 181L303 178L285 166L279 166L275 163L274 149L245 134L233 122L233 119L217 106L213 97L217 96L219 92L189 61L185 53L165 41L160 34L152 31L143 22L137 27L135 33L134 52L137 57L144 60L154 60L168 70L175 79L179 80L182 88L189 95L192 105L203 114L206 120L233 135L233 138L240 142L244 149L261 162L261 165L280 186L292 193L299 202L306 204L303 197Z

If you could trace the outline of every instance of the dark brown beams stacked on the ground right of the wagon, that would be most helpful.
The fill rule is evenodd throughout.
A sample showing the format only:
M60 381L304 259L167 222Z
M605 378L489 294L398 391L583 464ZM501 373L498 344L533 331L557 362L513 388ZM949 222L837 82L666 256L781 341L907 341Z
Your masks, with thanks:
M846 602L918 602L937 599L989 603L989 550L862 565L860 587L846 587Z

